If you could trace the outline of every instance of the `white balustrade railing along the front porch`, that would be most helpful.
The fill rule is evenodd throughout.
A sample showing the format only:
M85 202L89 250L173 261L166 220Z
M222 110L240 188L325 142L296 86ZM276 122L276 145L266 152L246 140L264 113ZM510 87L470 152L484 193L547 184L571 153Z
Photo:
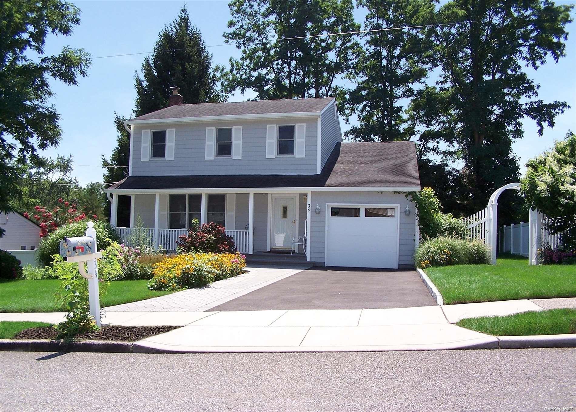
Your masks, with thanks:
M145 232L138 234L137 230ZM149 247L156 247L153 228L116 228L120 241L127 246L133 246L135 235L147 238ZM175 251L181 235L186 235L188 229L158 229L158 245L167 251ZM248 230L226 230L226 235L232 236L236 249L240 253L248 253Z

